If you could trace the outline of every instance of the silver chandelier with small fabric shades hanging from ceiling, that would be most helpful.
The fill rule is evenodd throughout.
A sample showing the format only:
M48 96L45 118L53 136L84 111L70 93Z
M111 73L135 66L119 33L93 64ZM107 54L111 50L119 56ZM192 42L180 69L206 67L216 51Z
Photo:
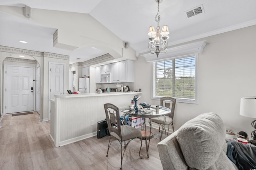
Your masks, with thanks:
M150 49L151 54L156 53L156 56L158 57L159 53L165 53L167 51L167 46L168 46L168 42L166 41L166 39L169 38L169 30L168 30L168 26L164 25L162 27L162 31L160 33L161 39L162 41L160 41L159 39L159 22L160 22L160 14L159 14L159 3L162 2L162 0L156 0L157 4L158 4L158 11L156 14L156 22L157 22L157 27L156 27L156 31L154 26L150 26L149 30L148 30L148 36L150 36L149 38L149 43L148 43L148 49Z

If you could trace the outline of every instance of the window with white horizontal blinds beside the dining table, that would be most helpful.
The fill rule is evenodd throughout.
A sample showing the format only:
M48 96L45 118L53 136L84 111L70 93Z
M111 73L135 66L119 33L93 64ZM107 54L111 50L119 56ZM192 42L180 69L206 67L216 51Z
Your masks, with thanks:
M153 98L196 100L196 55L153 63Z

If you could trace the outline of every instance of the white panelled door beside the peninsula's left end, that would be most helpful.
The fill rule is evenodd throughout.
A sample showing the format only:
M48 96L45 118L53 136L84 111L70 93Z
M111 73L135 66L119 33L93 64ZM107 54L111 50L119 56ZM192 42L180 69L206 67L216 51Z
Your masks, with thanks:
M48 119L50 120L50 99L54 99L54 94L63 94L64 64L50 63L50 98Z

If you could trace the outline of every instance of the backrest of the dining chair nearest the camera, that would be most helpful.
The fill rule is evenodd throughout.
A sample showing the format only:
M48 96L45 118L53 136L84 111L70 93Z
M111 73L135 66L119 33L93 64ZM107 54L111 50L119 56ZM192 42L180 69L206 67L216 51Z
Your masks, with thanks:
M109 133L114 132L120 137L120 139L122 139L121 129L120 129L121 125L120 125L119 108L113 104L107 103L107 104L104 104L104 109L106 113Z

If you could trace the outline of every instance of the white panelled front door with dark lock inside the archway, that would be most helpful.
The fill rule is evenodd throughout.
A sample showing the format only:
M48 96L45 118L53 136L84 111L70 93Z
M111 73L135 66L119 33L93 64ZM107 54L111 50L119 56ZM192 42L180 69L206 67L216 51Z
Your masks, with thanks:
M34 69L6 66L6 113L34 111Z

